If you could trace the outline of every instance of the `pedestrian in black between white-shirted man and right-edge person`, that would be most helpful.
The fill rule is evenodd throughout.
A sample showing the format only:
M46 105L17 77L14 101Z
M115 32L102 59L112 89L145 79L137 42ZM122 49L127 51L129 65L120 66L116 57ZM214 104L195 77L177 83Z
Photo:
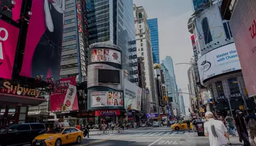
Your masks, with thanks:
M250 146L249 142L249 134L246 129L246 125L244 122L243 112L240 110L236 110L236 117L235 117L237 133L239 135L239 142L244 142L244 146Z

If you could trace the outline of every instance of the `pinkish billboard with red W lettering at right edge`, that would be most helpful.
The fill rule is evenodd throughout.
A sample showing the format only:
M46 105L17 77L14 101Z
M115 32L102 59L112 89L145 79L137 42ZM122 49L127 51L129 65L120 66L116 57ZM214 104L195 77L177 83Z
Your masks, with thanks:
M237 1L230 27L242 67L248 96L256 96L256 1Z

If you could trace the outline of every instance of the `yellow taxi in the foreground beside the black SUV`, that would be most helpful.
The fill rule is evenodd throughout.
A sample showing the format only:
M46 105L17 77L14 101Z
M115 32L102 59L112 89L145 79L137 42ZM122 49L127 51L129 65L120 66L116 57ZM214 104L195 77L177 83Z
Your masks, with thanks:
M83 138L83 131L80 131L79 129L73 127L53 128L43 135L36 136L32 145L60 146L68 143L81 143Z

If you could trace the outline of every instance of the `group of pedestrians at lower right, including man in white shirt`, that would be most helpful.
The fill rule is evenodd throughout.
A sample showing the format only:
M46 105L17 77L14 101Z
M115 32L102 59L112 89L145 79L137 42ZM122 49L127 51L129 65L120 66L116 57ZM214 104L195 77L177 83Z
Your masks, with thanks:
M249 110L248 113L248 115L243 115L243 112L236 110L234 117L230 113L227 117L214 117L212 112L206 112L204 133L205 136L209 137L210 145L230 145L229 137L230 135L236 136L237 131L239 142L243 142L244 146L250 146L251 143L256 146L254 141L256 136L256 115L254 110Z

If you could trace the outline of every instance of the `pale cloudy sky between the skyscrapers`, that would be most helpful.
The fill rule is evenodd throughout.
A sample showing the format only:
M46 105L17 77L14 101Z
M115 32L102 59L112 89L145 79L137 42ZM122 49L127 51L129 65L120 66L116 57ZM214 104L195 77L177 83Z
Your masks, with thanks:
M173 59L178 88L188 91L188 68L193 56L188 19L192 15L191 0L133 0L136 6L143 6L148 18L158 19L160 61L169 55ZM189 106L189 95L183 94L185 106ZM188 113L188 108L186 108Z

